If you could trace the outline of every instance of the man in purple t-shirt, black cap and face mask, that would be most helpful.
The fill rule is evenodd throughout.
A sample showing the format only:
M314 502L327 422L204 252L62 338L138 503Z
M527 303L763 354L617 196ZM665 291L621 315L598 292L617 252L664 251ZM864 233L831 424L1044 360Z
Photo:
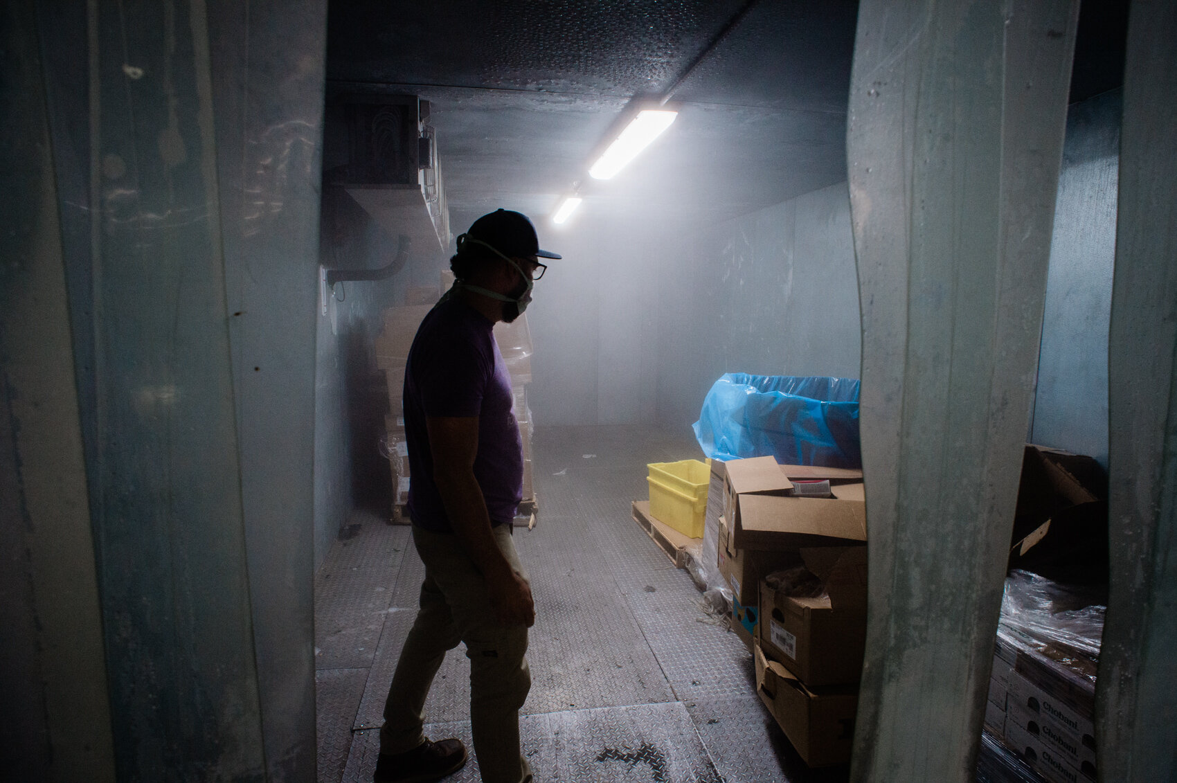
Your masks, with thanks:
M526 783L519 708L536 621L511 539L523 496L523 444L511 377L492 333L518 318L547 267L531 221L483 215L458 237L457 281L425 317L405 369L408 513L425 563L420 611L388 688L375 783L434 781L466 763L458 739L425 738L425 697L446 650L466 644L470 722L484 781Z

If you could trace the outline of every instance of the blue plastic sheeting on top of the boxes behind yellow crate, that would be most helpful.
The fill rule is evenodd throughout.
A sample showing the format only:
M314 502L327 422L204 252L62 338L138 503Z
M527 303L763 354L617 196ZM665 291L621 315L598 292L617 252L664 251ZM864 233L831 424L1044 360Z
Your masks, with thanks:
M693 424L712 459L776 457L789 465L862 467L858 380L730 372Z

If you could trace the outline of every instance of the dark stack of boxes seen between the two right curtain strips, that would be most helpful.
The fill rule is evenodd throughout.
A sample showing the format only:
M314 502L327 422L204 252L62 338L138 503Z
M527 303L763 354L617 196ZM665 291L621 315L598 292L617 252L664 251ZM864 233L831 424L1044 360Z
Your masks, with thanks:
M1102 469L1091 457L1026 445L1010 560L1036 573L1012 571L1006 580L985 731L1051 783L1096 779L1093 716L1102 613L1085 615L1088 625L1064 633L1059 624L1069 622L1063 619L1066 612L1052 609L1059 599L1075 611L1086 603L1084 593L1090 597L1090 583L1106 573L1105 498ZM1076 577L1089 583L1078 592L1066 586ZM1024 605L1009 600L1028 590L1036 591L1035 600ZM1098 606L1083 611L1090 609ZM1076 646L1079 639L1083 649Z

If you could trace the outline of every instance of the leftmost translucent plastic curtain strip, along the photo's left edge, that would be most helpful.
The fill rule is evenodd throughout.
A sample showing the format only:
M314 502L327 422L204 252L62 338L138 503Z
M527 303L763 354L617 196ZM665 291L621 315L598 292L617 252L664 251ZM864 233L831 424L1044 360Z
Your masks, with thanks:
M0 7L0 777L114 781L46 82Z

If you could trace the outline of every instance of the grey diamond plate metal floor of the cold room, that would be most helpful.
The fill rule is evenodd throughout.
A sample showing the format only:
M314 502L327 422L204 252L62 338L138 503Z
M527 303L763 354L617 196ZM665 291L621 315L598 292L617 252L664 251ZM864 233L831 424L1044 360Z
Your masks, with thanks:
M633 523L646 463L698 458L690 430L539 427L539 525L516 530L536 598L520 718L536 781L771 783L811 772L756 696L752 659ZM315 582L319 781L371 781L384 698L424 568L408 529L365 520ZM451 651L430 736L470 742L470 668ZM453 781L477 781L476 758Z

